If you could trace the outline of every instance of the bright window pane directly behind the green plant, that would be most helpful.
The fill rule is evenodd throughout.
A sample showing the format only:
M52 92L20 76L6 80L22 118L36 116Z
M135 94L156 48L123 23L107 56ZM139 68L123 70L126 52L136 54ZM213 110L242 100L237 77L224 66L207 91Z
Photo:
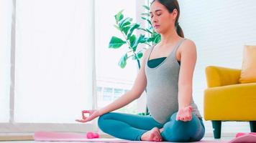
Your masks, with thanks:
M137 22L138 7L142 7L145 1L96 0L96 82L98 108L110 104L118 97L122 96L127 90L132 88L134 79L137 76L137 63L132 59L127 61L127 66L121 69L118 61L127 51L127 47L120 49L109 49L111 36L122 37L120 31L115 27L114 15L124 9L125 17L129 16L133 22ZM140 20L139 20L140 21ZM137 101L127 105L118 112L137 114Z

